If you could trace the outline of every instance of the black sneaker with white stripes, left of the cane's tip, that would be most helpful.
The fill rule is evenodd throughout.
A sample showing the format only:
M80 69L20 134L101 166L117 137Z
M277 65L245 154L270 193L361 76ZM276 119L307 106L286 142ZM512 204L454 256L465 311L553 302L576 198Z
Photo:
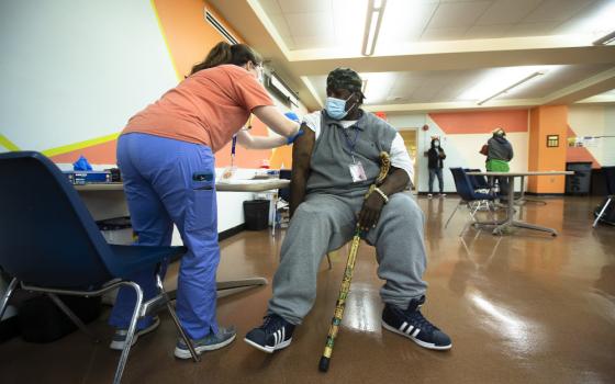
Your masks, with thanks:
M273 314L266 316L262 325L250 330L244 341L264 352L273 353L290 346L293 330L292 324Z

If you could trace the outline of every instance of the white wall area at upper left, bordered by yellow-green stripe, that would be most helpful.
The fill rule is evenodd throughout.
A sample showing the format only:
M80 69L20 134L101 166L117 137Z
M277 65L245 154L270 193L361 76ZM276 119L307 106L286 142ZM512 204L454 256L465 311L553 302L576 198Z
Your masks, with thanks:
M1 1L0 133L45 150L118 133L177 83L149 1Z

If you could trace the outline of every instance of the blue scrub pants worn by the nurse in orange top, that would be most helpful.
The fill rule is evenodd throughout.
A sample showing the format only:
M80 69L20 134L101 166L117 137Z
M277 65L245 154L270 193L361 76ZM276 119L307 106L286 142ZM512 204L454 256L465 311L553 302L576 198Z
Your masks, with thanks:
M118 140L118 166L139 246L169 246L177 225L188 253L181 258L177 315L191 339L217 332L215 272L220 261L215 167L204 145L132 133ZM156 295L155 271L132 276L144 300ZM136 297L122 287L109 324L127 328ZM152 324L139 320L138 329Z

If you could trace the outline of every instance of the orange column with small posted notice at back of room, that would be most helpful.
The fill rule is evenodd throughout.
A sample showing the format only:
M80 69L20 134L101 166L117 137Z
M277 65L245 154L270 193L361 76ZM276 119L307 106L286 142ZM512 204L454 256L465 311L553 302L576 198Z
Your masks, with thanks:
M529 158L530 171L566 169L566 138L568 133L568 106L544 105L529 111ZM559 145L547 147L547 136L558 135ZM527 189L534 193L563 193L563 176L529 178Z

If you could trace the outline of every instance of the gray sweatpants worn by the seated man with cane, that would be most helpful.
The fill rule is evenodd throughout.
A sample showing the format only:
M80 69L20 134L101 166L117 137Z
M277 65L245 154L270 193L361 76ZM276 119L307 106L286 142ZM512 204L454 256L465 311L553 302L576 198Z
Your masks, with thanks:
M282 244L269 314L301 324L316 300L323 257L353 238L362 202L362 196L312 194L299 205ZM407 307L412 298L425 294L423 224L423 212L414 200L395 193L383 206L376 228L367 234L366 241L376 247L378 276L385 281L380 290L384 303Z

